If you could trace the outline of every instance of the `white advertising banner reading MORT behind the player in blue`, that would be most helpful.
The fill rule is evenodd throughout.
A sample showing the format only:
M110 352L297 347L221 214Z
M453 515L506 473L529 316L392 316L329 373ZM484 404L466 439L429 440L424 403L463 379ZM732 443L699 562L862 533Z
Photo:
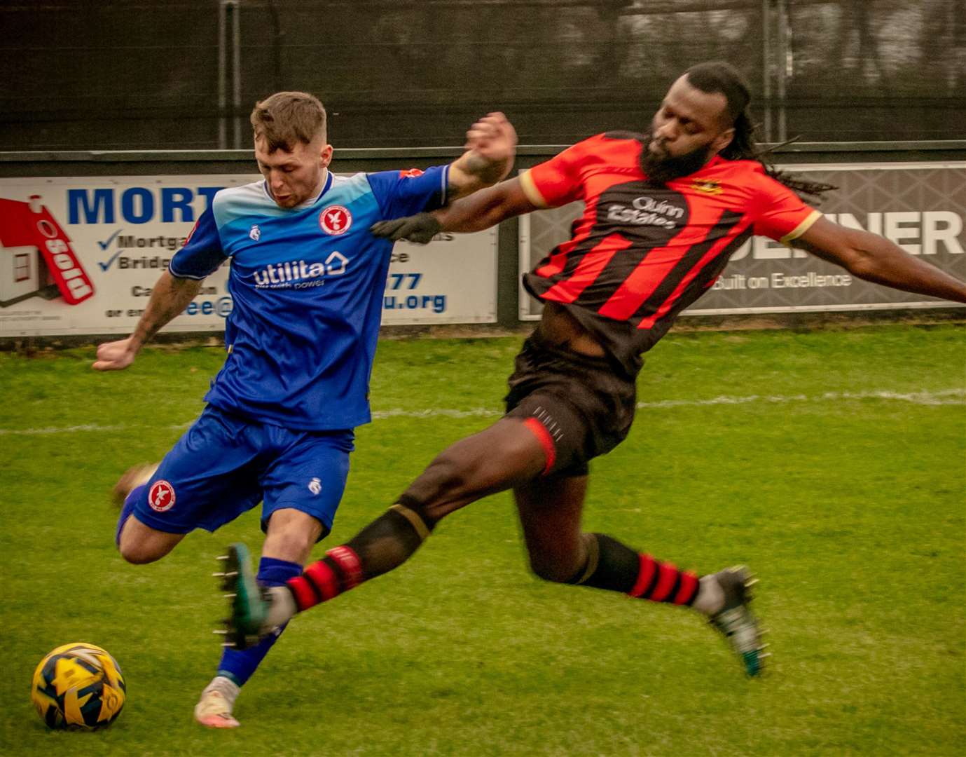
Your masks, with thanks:
M218 189L258 175L4 179L0 336L128 334ZM225 265L164 332L218 332ZM384 324L494 323L496 229L393 249Z

